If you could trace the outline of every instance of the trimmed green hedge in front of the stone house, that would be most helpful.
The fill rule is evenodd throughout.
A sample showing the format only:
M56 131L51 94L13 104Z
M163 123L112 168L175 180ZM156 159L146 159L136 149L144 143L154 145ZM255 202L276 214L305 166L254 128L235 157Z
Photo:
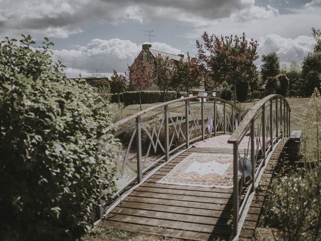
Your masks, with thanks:
M130 104L139 104L139 95L137 91L126 91L120 93L119 96L120 102L123 102L125 105ZM176 91L169 91L166 100L177 99ZM118 102L118 94L111 95L111 102ZM141 92L141 103L149 104L156 102L164 102L163 91L142 91Z

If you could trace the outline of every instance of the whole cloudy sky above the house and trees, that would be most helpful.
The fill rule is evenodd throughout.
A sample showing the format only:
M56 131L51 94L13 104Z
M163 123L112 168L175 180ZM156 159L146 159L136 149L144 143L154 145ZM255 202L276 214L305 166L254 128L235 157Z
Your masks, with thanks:
M197 54L204 31L259 41L261 56L301 62L321 29L321 0L0 0L0 39L31 34L55 43L68 76L126 71L149 41L152 48ZM260 62L258 61L259 65Z

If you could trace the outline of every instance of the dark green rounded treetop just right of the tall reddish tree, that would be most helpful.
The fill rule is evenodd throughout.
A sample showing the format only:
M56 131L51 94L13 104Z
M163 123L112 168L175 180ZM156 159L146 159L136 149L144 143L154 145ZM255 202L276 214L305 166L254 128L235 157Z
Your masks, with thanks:
M267 77L274 77L280 73L280 58L275 52L262 55L261 74L263 82Z

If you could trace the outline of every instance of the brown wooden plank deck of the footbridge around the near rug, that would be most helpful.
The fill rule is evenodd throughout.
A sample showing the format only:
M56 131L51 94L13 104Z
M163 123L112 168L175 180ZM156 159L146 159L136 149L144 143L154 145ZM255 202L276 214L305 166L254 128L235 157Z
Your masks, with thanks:
M280 141L275 155L279 155L285 143ZM232 154L233 150L189 149L133 190L99 225L192 240L229 240L232 234L233 188L156 183L192 153ZM271 165L267 166L271 168ZM264 183L248 209L243 223L246 228L241 230L240 237L250 238L254 233L270 176L266 173L263 178Z

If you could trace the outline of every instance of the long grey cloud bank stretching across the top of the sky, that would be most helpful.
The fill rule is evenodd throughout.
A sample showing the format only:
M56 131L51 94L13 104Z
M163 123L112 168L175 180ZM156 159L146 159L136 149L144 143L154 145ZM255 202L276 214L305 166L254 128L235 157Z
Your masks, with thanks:
M4 2L4 1L2 1ZM93 23L162 21L206 26L233 17L239 21L266 19L278 14L271 7L257 7L254 0L19 0L1 3L0 33L31 34L35 38L67 38Z

